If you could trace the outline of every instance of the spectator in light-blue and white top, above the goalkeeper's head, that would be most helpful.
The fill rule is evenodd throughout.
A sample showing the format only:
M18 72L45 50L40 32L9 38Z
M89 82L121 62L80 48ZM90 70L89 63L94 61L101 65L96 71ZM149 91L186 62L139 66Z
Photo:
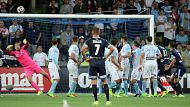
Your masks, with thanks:
M17 20L12 21L12 25L9 26L9 32L10 32L10 37L9 37L9 44L13 44L15 41L15 34L17 30L21 31L21 34L23 34L23 28L22 25L19 25Z

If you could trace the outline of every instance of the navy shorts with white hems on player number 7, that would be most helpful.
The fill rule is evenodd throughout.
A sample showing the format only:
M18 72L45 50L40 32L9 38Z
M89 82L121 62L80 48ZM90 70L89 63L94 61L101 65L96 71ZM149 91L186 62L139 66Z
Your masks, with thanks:
M106 69L105 67L95 67L90 66L89 67L89 79L106 79Z

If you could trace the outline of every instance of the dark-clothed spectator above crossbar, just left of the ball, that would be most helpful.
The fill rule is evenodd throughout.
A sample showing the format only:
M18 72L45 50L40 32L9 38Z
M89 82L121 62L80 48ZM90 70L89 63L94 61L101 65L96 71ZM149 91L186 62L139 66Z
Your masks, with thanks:
M13 4L12 0L7 1L6 10L10 13L17 13L17 7L16 4Z

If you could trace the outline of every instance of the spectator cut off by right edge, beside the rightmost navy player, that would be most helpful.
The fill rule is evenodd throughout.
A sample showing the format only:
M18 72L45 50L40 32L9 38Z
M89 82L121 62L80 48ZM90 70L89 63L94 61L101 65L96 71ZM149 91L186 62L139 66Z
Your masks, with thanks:
M190 67L190 42L186 45L186 50L182 53L185 67Z

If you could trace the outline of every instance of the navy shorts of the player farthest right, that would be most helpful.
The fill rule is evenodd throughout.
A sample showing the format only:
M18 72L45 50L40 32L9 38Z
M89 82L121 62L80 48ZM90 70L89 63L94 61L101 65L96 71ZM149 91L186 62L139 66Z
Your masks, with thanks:
M186 68L178 67L176 69L176 72L174 73L174 77L181 79L185 73L186 73Z

